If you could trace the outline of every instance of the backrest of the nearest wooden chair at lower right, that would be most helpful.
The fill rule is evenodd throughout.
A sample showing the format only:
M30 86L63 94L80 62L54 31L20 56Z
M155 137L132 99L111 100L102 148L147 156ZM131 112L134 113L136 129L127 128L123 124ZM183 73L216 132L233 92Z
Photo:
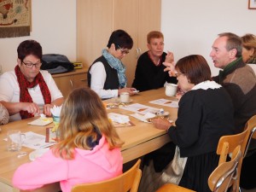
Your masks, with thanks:
M232 191L239 189L239 185L234 181L238 179L238 166L241 159L241 146L239 145L232 152L231 160L220 164L208 177L208 185L213 192L228 191L231 185Z

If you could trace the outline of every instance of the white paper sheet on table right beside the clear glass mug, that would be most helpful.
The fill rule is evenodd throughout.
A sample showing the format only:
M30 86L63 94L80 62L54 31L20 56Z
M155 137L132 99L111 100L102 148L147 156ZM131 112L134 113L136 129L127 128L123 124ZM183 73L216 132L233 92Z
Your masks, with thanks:
M45 136L32 131L26 132L25 135L26 135L26 138L22 146L26 148L33 148L33 149L47 148L55 144L55 143L46 143Z

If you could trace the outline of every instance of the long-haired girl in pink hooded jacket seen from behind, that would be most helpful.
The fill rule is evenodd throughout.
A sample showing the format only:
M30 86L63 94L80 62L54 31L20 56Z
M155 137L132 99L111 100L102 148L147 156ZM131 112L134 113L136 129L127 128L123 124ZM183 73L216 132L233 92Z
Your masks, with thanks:
M21 165L13 184L18 189L38 189L60 182L63 192L73 185L95 183L122 173L123 142L99 96L93 90L73 90L61 109L59 143L42 157Z

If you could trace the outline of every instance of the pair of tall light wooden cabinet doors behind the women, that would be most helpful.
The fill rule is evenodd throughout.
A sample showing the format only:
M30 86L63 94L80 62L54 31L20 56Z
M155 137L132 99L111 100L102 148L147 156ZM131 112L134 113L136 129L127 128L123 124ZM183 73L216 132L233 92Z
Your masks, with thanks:
M90 67L107 47L111 32L123 29L133 48L122 60L131 86L138 53L147 50L147 34L160 30L160 0L77 0L77 61Z

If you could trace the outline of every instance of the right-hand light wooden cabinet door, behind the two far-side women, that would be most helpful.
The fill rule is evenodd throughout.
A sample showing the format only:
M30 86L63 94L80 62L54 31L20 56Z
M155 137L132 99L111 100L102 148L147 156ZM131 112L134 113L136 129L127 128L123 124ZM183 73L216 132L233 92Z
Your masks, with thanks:
M148 32L160 30L160 6L160 0L113 0L113 30L124 29L134 41L131 52L122 60L128 87L133 82L139 55L147 50Z

